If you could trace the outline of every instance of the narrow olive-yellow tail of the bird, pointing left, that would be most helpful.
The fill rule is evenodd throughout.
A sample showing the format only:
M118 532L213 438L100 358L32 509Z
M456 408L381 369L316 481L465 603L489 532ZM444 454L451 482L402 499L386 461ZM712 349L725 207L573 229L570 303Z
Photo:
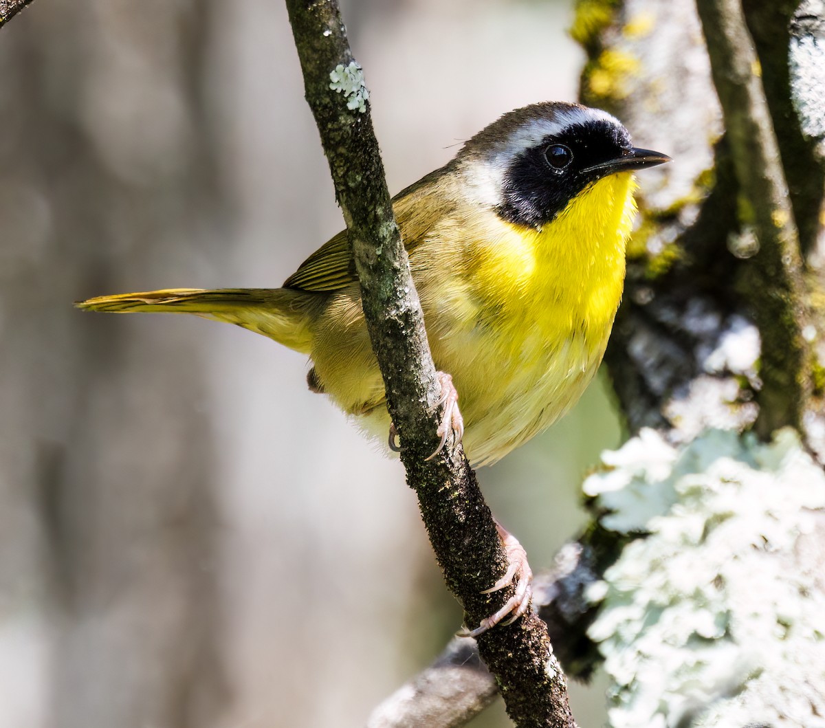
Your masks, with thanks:
M309 353L318 295L290 288L169 288L163 291L99 295L77 301L78 309L115 314L195 314L237 324Z

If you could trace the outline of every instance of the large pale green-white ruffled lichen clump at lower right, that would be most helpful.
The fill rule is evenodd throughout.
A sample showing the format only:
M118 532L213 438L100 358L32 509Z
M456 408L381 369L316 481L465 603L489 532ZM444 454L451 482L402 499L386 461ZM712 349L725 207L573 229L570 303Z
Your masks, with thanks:
M603 460L585 482L610 510L601 522L648 533L588 594L610 725L823 728L823 574L797 561L825 475L795 433L676 448L648 430Z

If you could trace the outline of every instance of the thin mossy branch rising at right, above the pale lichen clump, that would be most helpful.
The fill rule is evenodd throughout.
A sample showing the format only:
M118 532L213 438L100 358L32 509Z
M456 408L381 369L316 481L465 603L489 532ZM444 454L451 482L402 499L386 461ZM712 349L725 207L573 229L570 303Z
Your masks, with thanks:
M758 252L742 291L761 335L757 429L802 430L811 385L804 327L802 262L790 192L759 77L759 59L740 0L697 0L714 85L722 105L742 200L739 220Z

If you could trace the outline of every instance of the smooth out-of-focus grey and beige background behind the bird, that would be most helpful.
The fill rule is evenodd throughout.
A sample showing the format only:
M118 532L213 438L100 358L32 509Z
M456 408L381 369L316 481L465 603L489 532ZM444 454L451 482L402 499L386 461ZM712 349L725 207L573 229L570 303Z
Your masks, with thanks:
M570 0L342 7L391 191L577 97ZM278 286L342 228L283 3L38 0L0 69L0 728L363 725L461 619L398 461L265 338L71 305ZM598 381L479 472L534 570L619 441Z

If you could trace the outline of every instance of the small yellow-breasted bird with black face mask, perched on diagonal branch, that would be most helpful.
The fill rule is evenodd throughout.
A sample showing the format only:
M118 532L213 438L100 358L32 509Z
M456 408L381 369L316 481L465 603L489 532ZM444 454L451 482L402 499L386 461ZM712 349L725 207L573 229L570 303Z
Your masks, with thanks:
M442 446L453 433L471 464L492 465L579 399L620 305L634 172L669 161L634 147L606 111L540 102L493 121L445 166L394 196L440 372ZM389 430L394 444L346 230L280 288L177 288L76 305L195 314L275 339L309 357L310 390L328 395L369 433ZM515 578L520 593L469 634L521 616L529 602L526 554L497 526L511 569L491 590Z

